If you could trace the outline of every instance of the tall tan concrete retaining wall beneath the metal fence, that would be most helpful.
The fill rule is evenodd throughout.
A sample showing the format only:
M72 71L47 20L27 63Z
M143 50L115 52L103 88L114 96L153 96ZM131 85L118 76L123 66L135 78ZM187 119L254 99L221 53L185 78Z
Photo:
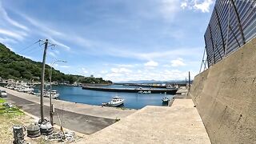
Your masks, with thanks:
M189 95L212 143L256 143L256 38L198 74Z

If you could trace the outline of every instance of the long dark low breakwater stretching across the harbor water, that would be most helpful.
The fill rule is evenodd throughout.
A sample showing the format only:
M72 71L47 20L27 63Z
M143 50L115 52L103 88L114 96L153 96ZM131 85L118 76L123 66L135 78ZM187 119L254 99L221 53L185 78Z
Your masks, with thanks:
M125 93L138 93L139 91L150 91L151 94L176 94L178 89L153 89L153 88L106 88L106 87L94 87L94 86L82 86L84 90L98 90L98 91L110 91L110 92L125 92Z

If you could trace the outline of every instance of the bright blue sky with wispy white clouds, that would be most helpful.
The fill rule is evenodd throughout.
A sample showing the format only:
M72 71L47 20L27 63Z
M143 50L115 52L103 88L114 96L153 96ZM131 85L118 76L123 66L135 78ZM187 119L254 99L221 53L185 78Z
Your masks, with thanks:
M0 42L65 74L182 80L198 74L213 0L0 0ZM30 46L30 47L27 47ZM27 47L27 48L26 48Z

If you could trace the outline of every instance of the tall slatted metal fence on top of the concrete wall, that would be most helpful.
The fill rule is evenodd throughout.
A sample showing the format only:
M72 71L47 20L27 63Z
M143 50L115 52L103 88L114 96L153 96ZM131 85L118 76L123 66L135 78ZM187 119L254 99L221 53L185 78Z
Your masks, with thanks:
M256 35L256 0L216 0L204 35L208 67Z

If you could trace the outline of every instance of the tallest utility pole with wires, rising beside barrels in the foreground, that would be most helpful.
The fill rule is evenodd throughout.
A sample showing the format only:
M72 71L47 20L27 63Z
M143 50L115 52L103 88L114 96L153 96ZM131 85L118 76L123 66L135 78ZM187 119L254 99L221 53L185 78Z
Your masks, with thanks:
M41 104L41 123L44 122L44 115L43 115L43 90L44 90L44 81L45 81L45 68L46 68L46 50L48 46L48 39L45 42L45 49L43 51L42 57L42 75L41 75L41 97L40 97L40 104Z

